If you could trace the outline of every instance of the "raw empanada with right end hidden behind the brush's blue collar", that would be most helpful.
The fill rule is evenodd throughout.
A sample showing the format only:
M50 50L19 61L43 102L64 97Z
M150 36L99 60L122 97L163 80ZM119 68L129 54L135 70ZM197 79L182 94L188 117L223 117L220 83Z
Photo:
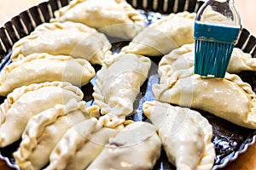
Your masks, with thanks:
M146 56L168 54L174 48L194 42L195 13L169 14L141 31L122 52Z

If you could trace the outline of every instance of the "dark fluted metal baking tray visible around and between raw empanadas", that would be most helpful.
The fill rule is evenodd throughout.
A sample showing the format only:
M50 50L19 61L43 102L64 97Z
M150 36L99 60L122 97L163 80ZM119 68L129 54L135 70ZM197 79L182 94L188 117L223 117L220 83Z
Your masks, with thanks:
M48 22L50 18L54 17L55 10L66 6L70 0L49 0L49 2L40 3L38 6L29 8L28 10L15 16L9 22L7 22L2 28L0 28L0 71L5 65L10 63L10 54L12 46L21 37L29 35L36 26ZM150 24L154 20L160 19L165 14L177 13L182 11L196 12L203 2L196 0L127 0L134 8L145 16L147 24ZM119 49L129 43L129 41L123 41L113 37L108 37L113 45L112 51L119 52ZM241 27L238 42L236 48L241 48L242 51L252 54L256 57L256 38L250 34L247 29ZM150 58L158 64L160 58ZM149 71L147 81L141 88L141 93L137 96L134 103L134 112L127 116L127 119L133 119L135 121L145 121L146 117L143 116L142 104L146 100L154 99L151 91L151 86L154 83L158 83L159 77L157 74L157 66L152 66ZM99 65L94 65L96 71L100 69ZM238 74L244 82L251 84L254 93L256 92L256 72L253 71L241 71ZM93 86L95 79L93 79L88 85L82 87L84 91L84 100L88 105L93 105ZM84 90L86 89L86 90ZM0 97L0 102L3 102L3 97ZM225 167L230 161L236 160L239 154L245 152L250 144L255 143L256 131L247 129L244 127L236 126L224 119L213 116L205 111L200 111L203 116L212 124L213 138L212 142L215 145L216 157L214 166L212 169L218 169ZM0 149L0 159L6 161L9 167L19 169L15 165L15 160L12 153L17 150L20 141L9 145L8 147ZM176 169L169 161L167 161L164 151L162 152L160 159L156 162L154 169Z

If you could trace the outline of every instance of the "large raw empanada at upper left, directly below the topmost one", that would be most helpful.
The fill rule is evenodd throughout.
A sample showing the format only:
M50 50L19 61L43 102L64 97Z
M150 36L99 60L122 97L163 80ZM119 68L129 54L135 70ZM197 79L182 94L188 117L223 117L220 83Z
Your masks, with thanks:
M53 22L38 26L29 36L15 42L11 59L16 61L29 54L47 53L71 55L101 65L104 56L111 54L110 48L107 37L89 26Z

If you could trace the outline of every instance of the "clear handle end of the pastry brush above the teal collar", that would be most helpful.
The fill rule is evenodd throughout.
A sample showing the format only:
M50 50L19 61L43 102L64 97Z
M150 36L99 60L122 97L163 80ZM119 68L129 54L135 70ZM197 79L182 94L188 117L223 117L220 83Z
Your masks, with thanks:
M195 21L219 26L241 26L234 0L207 0L199 9Z

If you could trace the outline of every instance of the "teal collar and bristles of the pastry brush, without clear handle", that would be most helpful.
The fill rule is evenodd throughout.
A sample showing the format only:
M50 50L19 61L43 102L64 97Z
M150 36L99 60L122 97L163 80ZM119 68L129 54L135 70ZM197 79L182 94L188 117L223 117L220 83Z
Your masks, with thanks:
M239 27L195 22L195 74L223 78L239 30Z

